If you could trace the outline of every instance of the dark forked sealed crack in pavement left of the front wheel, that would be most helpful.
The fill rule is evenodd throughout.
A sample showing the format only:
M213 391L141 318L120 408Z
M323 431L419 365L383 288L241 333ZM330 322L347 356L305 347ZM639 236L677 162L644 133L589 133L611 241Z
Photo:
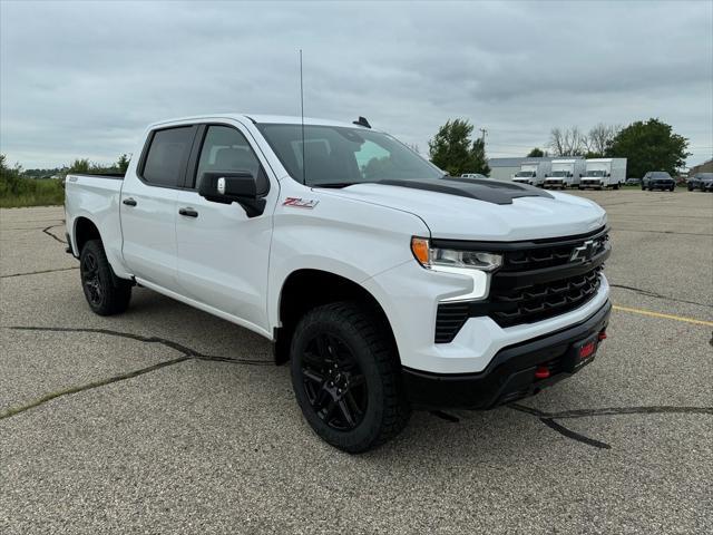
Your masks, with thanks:
M119 373L117 376L111 376L107 379L101 379L98 381L92 381L87 385L81 385L77 387L70 387L64 390L59 390L57 392L47 393L27 405L21 407L14 407L6 410L4 412L0 412L0 420L4 418L10 418L12 416L19 415L27 410L33 409L35 407L39 407L40 405L45 405L52 399L57 399L62 396L69 396L71 393L84 392L86 390L91 390L95 388L104 387L107 385L111 385L114 382L124 381L127 379L131 379L138 376L143 376L144 373L149 373L152 371L159 370L162 368L166 368L168 366L178 364L186 360L203 360L203 361L214 361L214 362L229 362L234 364L245 364L245 366L274 366L273 361L267 360L256 360L256 359L234 359L229 357L221 357L214 354L206 354L199 351L196 351L187 346L184 346L178 342L174 342L173 340L168 340L160 337L143 337L140 334L134 334L130 332L121 332L121 331L113 331L109 329L90 329L90 328L71 328L71 327L32 327L32 325L12 325L6 327L4 329L12 329L17 331L46 331L46 332L84 332L84 333L96 333L96 334L106 334L111 337L127 338L130 340L136 340L143 343L159 343L175 351L182 352L183 356L166 360L164 362L159 362L157 364L152 364L146 368L140 368L138 370L128 371L125 373Z

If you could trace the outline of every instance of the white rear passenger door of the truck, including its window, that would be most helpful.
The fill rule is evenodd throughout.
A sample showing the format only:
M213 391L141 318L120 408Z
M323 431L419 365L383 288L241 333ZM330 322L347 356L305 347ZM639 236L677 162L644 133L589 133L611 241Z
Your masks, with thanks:
M197 127L149 134L136 173L121 189L123 253L135 276L176 291L176 196Z

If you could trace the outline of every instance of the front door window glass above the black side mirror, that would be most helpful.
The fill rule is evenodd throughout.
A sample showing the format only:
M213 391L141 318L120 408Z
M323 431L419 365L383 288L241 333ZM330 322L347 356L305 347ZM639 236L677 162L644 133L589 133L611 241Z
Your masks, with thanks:
M242 133L229 126L209 126L198 160L196 187L205 172L248 172L257 178L257 191L267 191L267 177Z

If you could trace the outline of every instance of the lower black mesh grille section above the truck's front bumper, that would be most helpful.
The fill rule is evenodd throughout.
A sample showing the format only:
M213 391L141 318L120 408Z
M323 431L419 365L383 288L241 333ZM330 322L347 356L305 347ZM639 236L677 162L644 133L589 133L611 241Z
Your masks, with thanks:
M490 318L500 327L534 323L569 312L594 296L599 289L599 268L583 275L511 290L494 290Z

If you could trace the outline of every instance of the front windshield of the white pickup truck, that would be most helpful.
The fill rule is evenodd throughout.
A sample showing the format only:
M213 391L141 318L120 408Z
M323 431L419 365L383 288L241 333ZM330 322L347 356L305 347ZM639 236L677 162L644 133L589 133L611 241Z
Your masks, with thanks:
M343 126L256 125L282 165L307 186L348 186L383 179L439 179L443 172L393 137ZM306 165L303 166L302 155Z

